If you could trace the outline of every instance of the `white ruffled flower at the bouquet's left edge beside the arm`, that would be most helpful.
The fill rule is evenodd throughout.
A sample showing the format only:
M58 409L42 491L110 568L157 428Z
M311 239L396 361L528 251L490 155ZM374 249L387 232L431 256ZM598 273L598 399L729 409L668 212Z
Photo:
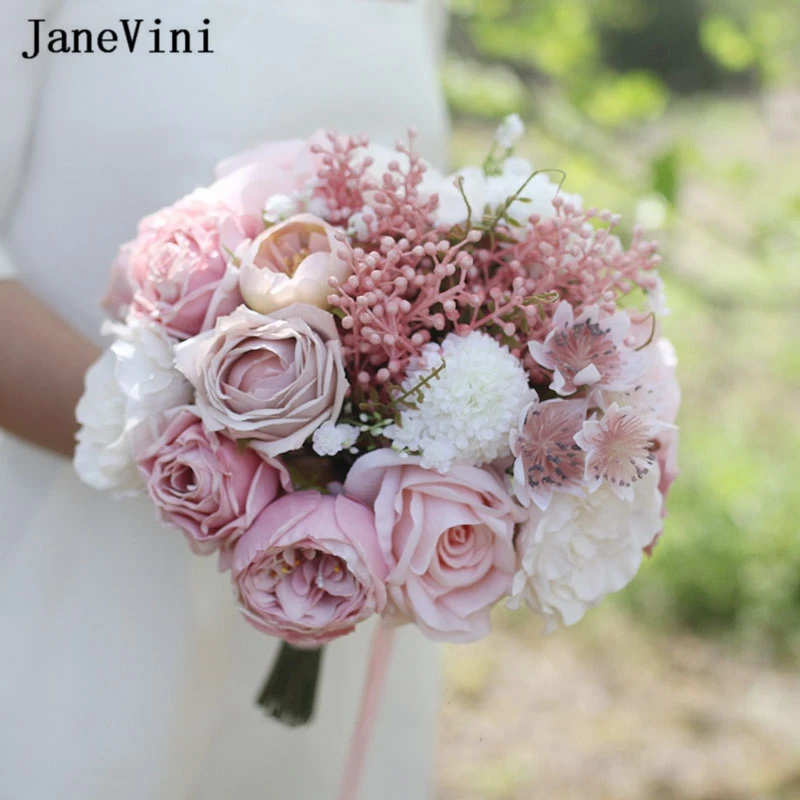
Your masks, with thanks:
M191 402L192 387L173 367L173 341L161 329L132 321L108 323L117 339L90 367L76 410L81 425L75 469L95 489L135 491L141 486L130 437L142 422Z

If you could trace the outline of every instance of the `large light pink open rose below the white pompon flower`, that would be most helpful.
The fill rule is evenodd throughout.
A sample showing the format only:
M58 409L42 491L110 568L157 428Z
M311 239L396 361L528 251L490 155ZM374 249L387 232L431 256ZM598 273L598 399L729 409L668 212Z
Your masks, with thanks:
M375 511L397 616L437 641L489 633L489 611L516 570L514 526L525 517L494 474L459 465L442 475L376 450L353 465L345 493Z

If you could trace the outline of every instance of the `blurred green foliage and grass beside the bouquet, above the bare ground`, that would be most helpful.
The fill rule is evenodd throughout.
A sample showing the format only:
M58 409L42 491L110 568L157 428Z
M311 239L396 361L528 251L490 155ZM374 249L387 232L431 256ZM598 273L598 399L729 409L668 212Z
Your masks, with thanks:
M455 166L518 111L523 155L662 242L682 475L620 602L800 657L800 2L452 6Z

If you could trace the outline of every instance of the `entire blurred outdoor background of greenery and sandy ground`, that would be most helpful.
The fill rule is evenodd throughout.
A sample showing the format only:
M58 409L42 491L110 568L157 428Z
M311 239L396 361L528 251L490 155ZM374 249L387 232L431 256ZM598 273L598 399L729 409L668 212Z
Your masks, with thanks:
M574 630L500 610L448 651L440 797L800 798L800 2L450 9L454 166L518 112L522 155L661 241L684 399L637 581Z

